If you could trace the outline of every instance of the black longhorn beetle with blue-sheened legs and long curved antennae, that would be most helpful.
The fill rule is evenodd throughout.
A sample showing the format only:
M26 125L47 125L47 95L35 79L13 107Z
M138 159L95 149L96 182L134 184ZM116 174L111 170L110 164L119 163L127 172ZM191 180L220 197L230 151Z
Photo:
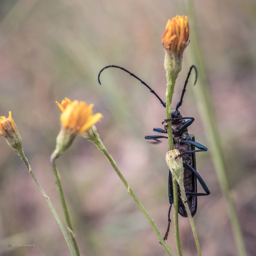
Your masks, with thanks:
M135 76L133 73L131 73L130 71L128 71L125 68L116 66L116 65L109 65L106 66L104 68L102 68L99 72L98 75L98 82L100 83L100 74L101 72L106 69L106 68L120 68L123 71L127 72L128 74L130 74L131 76L135 77L136 79L138 79L140 81L141 84L144 84L149 90L150 92L152 92L156 98L160 101L160 103L166 107L166 103L161 100L161 98L156 94L156 92L154 90L152 90L148 84L146 84L144 81L142 81L138 76ZM172 123L172 136L173 136L173 146L174 149L178 149L180 151L180 156L182 156L182 163L183 163L183 167L184 167L184 187L185 187L185 192L186 192L186 196L187 196L187 203L188 203L188 207L189 210L191 212L191 215L194 216L196 214L196 208L197 208L197 196L207 196L210 194L209 189L207 188L204 180L202 179L202 177L200 176L200 174L196 171L196 152L200 152L200 151L207 151L207 148L204 147L202 144L198 143L195 141L195 136L193 134L189 134L188 133L188 126L190 126L193 122L194 122L194 117L183 117L180 114L180 111L178 110L178 108L180 108L180 106L182 105L182 100L184 97L184 94L186 92L186 86L188 84L188 79L189 76L191 74L192 69L195 69L196 72L196 79L195 79L195 83L196 84L196 80L197 80L197 69L194 65L192 65L188 71L188 75L181 93L181 97L180 97L180 101L177 103L176 108L171 110L171 118L170 119L164 119L164 121L162 122L162 124L166 123L164 126L164 129L162 128L154 128L153 131L154 132L159 132L159 133L167 133L166 127L168 125L168 123L171 121ZM187 121L185 121L185 119L187 119ZM145 139L147 140L153 140L154 143L159 143L161 142L162 138L166 138L168 139L167 136L162 136L162 135L151 135L151 136L145 136ZM195 149L198 148L198 149ZM199 181L200 185L202 186L202 188L204 189L205 193L197 193L197 180ZM173 186L172 186L172 174L169 170L169 176L168 176L168 196L169 196L169 203L170 203L170 207L169 207L169 211L168 211L168 226L167 226L167 230L166 233L164 235L164 240L167 240L168 238L168 234L170 231L170 223L171 223L171 218L170 218L170 212L171 212L171 208L172 208L172 203L173 203ZM180 213L181 216L183 217L188 217L184 203L182 202L182 199L180 197L180 188L178 185L178 211Z

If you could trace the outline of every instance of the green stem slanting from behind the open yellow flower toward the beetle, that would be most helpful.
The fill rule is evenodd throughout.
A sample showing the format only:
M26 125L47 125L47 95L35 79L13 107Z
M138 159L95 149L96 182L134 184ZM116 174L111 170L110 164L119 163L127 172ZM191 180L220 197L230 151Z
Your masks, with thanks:
M173 256L173 253L170 251L169 247L167 246L167 244L164 242L164 239L162 238L158 228L156 227L156 224L154 222L154 220L149 216L148 212L146 211L146 209L144 208L144 206L140 203L140 200L137 198L137 196L135 195L135 193L133 192L132 188L130 187L130 185L127 183L127 181L125 180L124 176L122 175L122 173L119 171L115 160L112 158L112 156L108 153L107 149L105 148L105 146L103 145L102 141L100 140L100 136L97 132L96 127L93 125L92 128L86 132L86 134L84 135L84 138L87 140L92 141L92 143L95 144L95 146L103 153L103 155L108 159L108 162L112 165L113 169L115 170L116 174L118 175L118 177L120 178L120 180L122 180L122 182L124 183L125 188L127 189L128 193L132 196L132 198L134 199L134 201L139 205L141 211L144 213L144 215L146 216L146 218L148 219L148 222L150 223L150 225L152 226L152 228L154 229L156 236L158 237L160 243L164 246L164 249L166 250L166 252L168 253L168 255Z

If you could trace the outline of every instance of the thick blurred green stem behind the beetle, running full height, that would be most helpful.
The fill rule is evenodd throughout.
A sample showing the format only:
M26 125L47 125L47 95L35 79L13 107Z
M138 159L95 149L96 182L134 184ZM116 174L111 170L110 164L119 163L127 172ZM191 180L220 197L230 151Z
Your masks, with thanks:
M244 245L244 239L239 225L239 220L236 212L234 198L228 183L227 165L224 159L223 149L220 144L220 133L217 128L217 121L214 117L214 111L212 107L212 101L210 92L207 86L207 78L204 68L204 60L200 49L198 36L196 34L195 15L192 1L188 1L189 12L189 24L193 28L190 31L191 36L191 57L196 60L196 66L200 73L200 80L198 81L195 89L196 103L200 111L202 122L204 124L204 130L207 133L207 139L211 145L211 154L213 163L215 165L215 171L217 173L218 182L222 191L222 195L226 200L228 206L228 213L230 218L231 227L235 236L236 246L240 256L246 256L246 249ZM200 99L200 100L199 100Z

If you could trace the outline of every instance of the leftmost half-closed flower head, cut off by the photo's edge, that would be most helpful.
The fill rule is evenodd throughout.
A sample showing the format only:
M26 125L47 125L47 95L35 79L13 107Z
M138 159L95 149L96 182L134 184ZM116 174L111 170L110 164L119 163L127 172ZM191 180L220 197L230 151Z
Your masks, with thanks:
M16 124L12 119L12 112L9 111L9 117L0 116L0 135L5 137L7 143L16 151L22 149L22 140Z

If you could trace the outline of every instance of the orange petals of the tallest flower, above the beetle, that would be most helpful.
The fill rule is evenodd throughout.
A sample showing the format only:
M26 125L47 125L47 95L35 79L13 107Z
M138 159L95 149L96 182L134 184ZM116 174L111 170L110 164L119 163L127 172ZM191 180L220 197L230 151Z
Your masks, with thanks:
M188 16L177 15L167 21L161 39L165 49L170 49L171 52L183 52L188 43L188 36Z

